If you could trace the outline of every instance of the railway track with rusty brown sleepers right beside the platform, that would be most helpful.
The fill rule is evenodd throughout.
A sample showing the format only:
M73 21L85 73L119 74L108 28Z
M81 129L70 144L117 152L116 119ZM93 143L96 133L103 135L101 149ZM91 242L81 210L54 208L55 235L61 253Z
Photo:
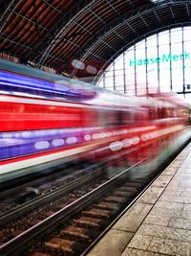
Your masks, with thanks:
M147 160L148 157L95 189L88 187L90 192L73 198L69 204L60 205L57 211L48 212L45 220L36 217L31 226L14 230L15 237L0 246L1 255L86 253L89 246L156 176L156 172L149 172L141 178L132 176L138 166Z

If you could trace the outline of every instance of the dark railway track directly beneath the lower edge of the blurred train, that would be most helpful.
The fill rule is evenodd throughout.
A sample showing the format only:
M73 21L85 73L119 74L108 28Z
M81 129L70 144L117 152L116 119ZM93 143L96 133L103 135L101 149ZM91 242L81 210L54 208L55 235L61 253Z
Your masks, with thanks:
M82 164L64 170L58 166L57 169L60 170L58 173L52 172L52 175L43 176L1 192L0 226L73 191L91 179L98 176L103 176L105 179L104 175L108 168L123 161L123 157L124 154L117 154L115 157L110 157L109 162L89 164L89 166L86 164L85 168Z

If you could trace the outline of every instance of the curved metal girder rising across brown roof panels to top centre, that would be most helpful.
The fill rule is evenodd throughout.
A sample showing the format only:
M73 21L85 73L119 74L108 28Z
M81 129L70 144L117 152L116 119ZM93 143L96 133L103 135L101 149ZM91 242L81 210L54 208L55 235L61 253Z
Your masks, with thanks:
M72 11L69 11L68 13L65 13L65 15L63 15L62 18L58 20L58 22L53 26L53 29L50 30L48 36L43 41L39 42L39 44L36 46L36 49L41 52L42 56L37 60L38 66L44 64L46 58L48 58L54 45L56 44L57 40L59 40L63 32L66 31L66 29L74 23L76 18L82 12L87 11L91 5L94 5L97 0L93 0L91 3L89 2L89 0L78 0L76 8Z

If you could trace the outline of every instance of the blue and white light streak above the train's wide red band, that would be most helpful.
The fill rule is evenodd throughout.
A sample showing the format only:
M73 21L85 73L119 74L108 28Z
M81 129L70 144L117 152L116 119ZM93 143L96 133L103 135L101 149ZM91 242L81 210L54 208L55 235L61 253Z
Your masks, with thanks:
M55 99L86 100L94 98L95 91L87 90L72 81L46 81L0 70L0 91L5 94L19 92L21 96Z

